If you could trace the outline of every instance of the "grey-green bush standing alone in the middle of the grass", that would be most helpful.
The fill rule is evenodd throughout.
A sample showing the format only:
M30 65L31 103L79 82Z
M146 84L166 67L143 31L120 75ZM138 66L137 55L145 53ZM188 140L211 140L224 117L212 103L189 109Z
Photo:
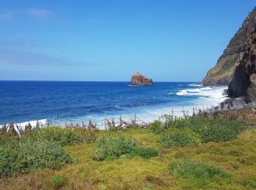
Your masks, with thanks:
M121 156L142 156L143 158L151 158L157 156L158 153L154 148L146 148L138 146L135 140L124 136L102 137L97 142L97 148L91 151L93 159L102 161L106 159L117 159Z

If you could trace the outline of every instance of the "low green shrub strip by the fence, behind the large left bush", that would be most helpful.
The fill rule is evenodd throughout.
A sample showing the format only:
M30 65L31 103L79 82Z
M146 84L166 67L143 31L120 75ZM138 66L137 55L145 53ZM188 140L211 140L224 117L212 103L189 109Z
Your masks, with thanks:
M48 126L32 134L39 140L50 140L60 145L74 145L82 142L94 142L94 134L85 129L61 128L59 126Z

